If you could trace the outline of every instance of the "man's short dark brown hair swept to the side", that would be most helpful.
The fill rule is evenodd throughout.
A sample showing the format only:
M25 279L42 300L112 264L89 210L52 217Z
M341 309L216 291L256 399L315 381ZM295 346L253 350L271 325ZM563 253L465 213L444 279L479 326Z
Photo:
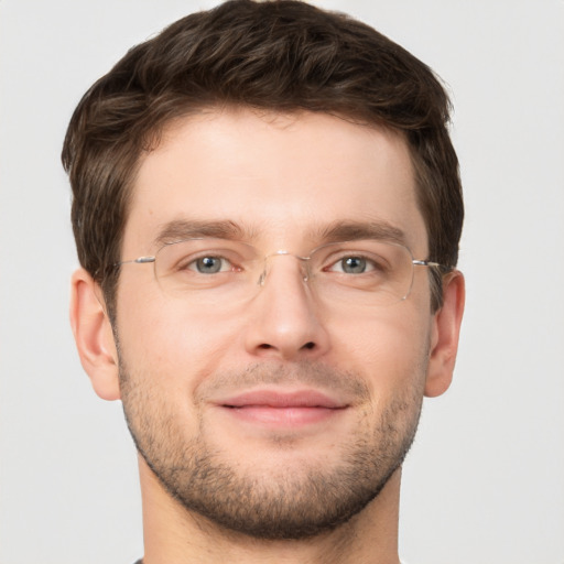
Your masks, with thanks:
M464 217L449 100L433 72L372 28L294 0L231 0L130 50L85 94L65 138L80 264L110 315L141 153L172 119L238 105L318 111L390 128L408 142L430 259L454 267ZM442 303L435 276L432 306Z

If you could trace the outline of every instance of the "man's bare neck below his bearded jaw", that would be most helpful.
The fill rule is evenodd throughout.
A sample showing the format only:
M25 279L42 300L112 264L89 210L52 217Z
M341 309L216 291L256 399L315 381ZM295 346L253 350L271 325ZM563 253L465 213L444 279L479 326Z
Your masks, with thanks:
M360 513L305 540L264 541L226 531L173 499L139 458L143 500L143 564L398 564L401 469Z

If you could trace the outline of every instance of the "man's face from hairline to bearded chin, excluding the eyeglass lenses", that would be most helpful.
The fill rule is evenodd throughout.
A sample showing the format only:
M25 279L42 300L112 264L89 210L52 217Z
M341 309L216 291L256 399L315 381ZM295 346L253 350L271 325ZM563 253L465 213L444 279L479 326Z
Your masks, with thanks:
M142 159L122 260L195 225L236 226L261 256L306 257L339 226L427 252L404 141L327 115L170 127ZM258 538L317 534L378 495L413 438L433 341L426 269L406 300L364 310L321 301L300 262L270 259L245 304L163 292L151 263L120 274L121 395L143 458L185 508Z

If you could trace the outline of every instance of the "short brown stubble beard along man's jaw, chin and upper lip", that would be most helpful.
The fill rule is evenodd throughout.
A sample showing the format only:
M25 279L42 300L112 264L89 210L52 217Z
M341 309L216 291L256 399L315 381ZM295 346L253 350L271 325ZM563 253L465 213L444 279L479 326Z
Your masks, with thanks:
M358 377L325 366L304 364L292 372L278 370L275 375L258 366L254 372L264 382L333 379L350 386L354 378L358 393L368 393ZM224 377L248 381L248 373ZM128 372L121 356L120 382L135 446L167 492L188 512L226 531L260 540L316 536L362 511L403 463L422 404L419 386L403 390L379 416L365 413L354 440L336 446L340 456L332 459L338 458L338 463L307 459L299 468L272 467L265 474L226 460L208 441L202 419L196 436L187 438L182 421L174 419L151 384L143 386Z

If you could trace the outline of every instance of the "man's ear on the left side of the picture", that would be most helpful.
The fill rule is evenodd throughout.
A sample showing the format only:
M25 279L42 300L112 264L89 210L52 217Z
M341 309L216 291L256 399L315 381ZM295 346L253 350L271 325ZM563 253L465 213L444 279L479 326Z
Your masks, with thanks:
M110 319L100 286L84 269L72 279L70 326L94 390L105 400L118 400L119 365Z

